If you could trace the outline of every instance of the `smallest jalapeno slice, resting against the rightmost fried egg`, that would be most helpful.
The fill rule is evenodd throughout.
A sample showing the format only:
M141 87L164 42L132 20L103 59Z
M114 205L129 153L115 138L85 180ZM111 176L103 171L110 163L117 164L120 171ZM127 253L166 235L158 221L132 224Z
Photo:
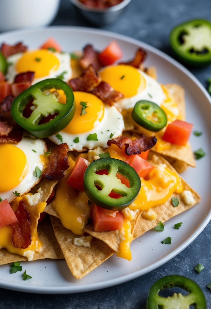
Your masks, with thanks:
M136 102L132 118L143 128L157 132L167 124L166 113L156 103L146 100Z

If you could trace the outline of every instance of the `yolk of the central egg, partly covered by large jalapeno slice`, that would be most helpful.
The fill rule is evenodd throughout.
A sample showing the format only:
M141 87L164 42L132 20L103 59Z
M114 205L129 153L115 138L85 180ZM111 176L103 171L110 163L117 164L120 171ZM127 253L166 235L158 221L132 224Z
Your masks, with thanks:
M104 104L95 95L90 93L75 91L76 110L71 122L62 131L70 134L84 133L90 131L94 126L103 119ZM86 103L84 114L81 115L83 105Z

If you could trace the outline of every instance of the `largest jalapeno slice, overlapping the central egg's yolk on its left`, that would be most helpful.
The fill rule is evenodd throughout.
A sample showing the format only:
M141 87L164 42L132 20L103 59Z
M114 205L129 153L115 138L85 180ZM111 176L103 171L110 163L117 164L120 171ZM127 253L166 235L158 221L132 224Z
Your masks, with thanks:
M66 103L58 102L53 93L44 94L49 89L62 89L66 95ZM28 118L23 116L26 105L32 101L32 113ZM18 95L11 106L13 119L28 133L37 138L56 134L64 129L75 113L75 101L70 86L58 78L45 79ZM39 124L42 118L57 114L47 123Z

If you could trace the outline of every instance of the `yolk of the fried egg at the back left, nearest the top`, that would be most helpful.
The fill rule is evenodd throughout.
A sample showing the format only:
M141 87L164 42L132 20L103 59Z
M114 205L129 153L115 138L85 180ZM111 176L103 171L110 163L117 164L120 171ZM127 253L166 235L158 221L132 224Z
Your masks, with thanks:
M47 49L40 49L26 52L16 64L17 73L32 71L35 72L34 78L47 76L57 70L59 60Z

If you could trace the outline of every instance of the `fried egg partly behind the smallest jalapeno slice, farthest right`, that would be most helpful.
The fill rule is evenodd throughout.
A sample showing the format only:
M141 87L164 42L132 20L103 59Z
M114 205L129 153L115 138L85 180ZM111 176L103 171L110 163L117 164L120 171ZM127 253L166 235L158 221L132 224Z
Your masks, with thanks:
M133 108L139 100L152 101L160 106L165 98L160 84L133 66L107 66L99 72L99 76L124 95L114 104L120 111Z

